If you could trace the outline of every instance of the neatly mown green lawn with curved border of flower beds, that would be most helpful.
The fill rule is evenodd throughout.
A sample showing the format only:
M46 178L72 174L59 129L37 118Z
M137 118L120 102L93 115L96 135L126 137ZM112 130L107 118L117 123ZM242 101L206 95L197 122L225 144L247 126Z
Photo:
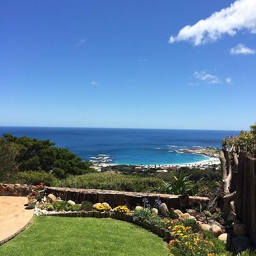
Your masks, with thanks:
M168 251L159 237L128 222L44 216L0 246L0 255L164 256Z

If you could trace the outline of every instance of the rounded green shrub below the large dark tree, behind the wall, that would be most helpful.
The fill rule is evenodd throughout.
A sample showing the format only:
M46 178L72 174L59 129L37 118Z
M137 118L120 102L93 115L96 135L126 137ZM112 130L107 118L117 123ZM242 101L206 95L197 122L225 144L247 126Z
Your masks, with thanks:
M22 184L37 185L39 183L44 183L47 186L56 183L56 177L47 172L18 172L17 181Z

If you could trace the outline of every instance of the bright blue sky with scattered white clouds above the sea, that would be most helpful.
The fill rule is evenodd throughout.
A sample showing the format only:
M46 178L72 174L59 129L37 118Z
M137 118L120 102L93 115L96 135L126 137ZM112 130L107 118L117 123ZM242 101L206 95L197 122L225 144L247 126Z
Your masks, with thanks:
M0 126L256 121L255 0L2 0L0 9Z

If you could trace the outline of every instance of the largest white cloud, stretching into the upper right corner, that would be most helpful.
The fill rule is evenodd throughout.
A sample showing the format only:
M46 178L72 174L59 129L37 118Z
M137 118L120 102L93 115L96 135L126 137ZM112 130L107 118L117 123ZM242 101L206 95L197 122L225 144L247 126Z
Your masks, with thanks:
M237 0L229 7L216 11L193 26L183 27L169 42L191 41L196 46L215 41L224 34L236 35L238 30L256 32L256 1Z

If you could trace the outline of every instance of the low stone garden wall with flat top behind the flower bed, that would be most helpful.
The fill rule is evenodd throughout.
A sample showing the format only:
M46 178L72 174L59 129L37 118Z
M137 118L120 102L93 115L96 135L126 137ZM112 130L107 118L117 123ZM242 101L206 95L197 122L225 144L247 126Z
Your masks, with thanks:
M0 184L0 196L27 196L34 186L20 184ZM52 193L56 197L61 197L62 200L72 200L79 204L82 201L90 201L95 203L108 203L111 207L118 205L128 205L136 207L143 205L142 199L146 197L149 203L154 206L155 199L160 199L162 203L166 203L167 207L175 209L188 209L195 207L198 203L208 203L207 197L197 196L176 196L156 193L137 193L125 191L112 191L100 189L78 189L78 188L55 188L46 187L47 195Z

